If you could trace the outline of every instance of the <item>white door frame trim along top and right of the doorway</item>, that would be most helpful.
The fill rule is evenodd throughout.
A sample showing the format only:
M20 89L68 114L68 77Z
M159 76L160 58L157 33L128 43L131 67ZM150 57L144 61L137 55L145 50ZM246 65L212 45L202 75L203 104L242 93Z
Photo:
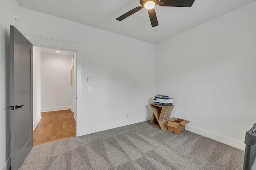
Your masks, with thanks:
M49 39L44 37L36 37L32 35L24 36L33 44L33 46L37 47L46 47L52 49L60 49L67 51L76 52L76 136L81 135L81 114L82 114L82 86L81 86L81 58L82 58L82 45L79 43L66 42L56 39Z

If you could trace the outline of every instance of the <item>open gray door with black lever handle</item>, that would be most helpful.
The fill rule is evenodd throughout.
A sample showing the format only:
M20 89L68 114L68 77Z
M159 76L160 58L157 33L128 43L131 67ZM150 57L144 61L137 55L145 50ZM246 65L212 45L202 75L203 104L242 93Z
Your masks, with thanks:
M18 170L33 147L32 44L12 25L10 57L12 170Z

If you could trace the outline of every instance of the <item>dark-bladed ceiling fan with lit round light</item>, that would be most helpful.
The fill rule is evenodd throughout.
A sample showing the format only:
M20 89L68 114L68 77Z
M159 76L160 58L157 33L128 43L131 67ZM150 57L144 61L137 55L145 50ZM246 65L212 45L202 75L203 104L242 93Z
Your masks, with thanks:
M177 7L191 7L193 5L195 0L140 0L140 4L142 6L138 6L129 12L126 12L124 15L116 18L118 21L122 21L128 16L131 16L135 12L138 12L142 8L148 9L148 15L150 18L150 22L152 27L155 27L158 25L158 21L156 18L156 11L153 9L156 5L159 6L177 6Z

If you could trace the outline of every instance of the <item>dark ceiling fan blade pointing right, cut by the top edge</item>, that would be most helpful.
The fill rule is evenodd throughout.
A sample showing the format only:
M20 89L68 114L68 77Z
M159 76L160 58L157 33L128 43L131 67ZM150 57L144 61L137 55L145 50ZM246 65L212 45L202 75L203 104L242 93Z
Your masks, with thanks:
M195 0L160 0L163 4L159 6L178 6L178 7L191 7Z

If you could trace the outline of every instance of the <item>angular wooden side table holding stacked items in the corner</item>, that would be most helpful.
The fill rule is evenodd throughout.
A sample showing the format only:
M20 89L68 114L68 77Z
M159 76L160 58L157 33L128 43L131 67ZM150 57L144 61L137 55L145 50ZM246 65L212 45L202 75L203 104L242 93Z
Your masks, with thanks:
M170 115L172 113L174 105L160 106L151 103L150 107L153 111L153 114L149 124L159 129L162 129L163 131L166 131L168 129L167 123L170 119Z

